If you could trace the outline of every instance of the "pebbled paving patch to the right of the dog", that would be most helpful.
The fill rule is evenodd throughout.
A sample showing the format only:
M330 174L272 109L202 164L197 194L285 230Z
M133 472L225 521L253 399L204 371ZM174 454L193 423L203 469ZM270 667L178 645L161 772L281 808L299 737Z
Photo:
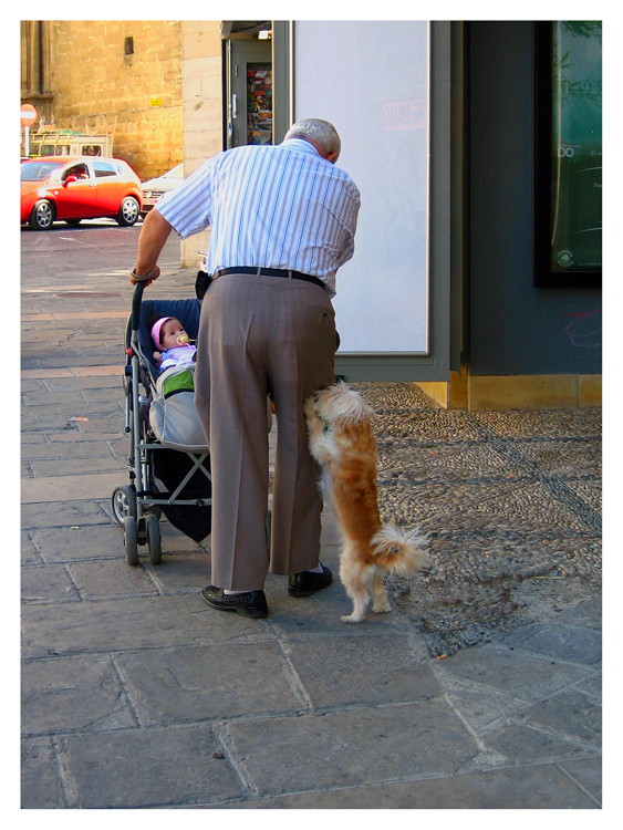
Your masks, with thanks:
M601 592L601 409L445 411L415 384L354 385L383 519L430 535L433 571L387 581L432 656Z

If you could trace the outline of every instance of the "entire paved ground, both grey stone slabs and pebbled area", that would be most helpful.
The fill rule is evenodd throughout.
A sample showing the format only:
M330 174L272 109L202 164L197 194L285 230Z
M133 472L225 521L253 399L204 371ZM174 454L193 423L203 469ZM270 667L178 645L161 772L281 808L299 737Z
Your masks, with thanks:
M435 571L362 625L338 580L215 612L209 539L163 520L162 564L129 568L112 516L137 235L22 231L21 807L599 809L600 413L361 384L383 511L432 533ZM177 256L153 297L191 295ZM339 551L326 512L334 573Z

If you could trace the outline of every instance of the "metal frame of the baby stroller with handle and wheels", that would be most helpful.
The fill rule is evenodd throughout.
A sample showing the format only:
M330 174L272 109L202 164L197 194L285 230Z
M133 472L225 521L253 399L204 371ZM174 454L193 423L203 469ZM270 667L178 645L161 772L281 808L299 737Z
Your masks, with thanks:
M129 484L116 487L112 495L112 509L115 521L124 531L125 559L127 564L138 563L138 546L147 544L149 561L158 564L162 561L162 541L159 518L166 507L211 507L211 475L205 466L209 457L207 452L177 450L185 453L191 461L190 469L172 491L155 491L154 470L150 459L153 452L172 449L158 442L147 421L142 419L139 386L147 393L155 390L152 375L153 363L141 343L141 308L144 282L138 282L134 289L132 314L126 333L126 365L124 367L125 392L125 433L129 435L129 454L127 468ZM175 304L176 301L172 301ZM178 301L184 302L184 301ZM196 301L195 301L196 302ZM173 317L173 314L170 314ZM129 336L128 336L129 335ZM177 449L177 448L174 448ZM209 481L209 498L180 498L186 485L197 474L201 473Z

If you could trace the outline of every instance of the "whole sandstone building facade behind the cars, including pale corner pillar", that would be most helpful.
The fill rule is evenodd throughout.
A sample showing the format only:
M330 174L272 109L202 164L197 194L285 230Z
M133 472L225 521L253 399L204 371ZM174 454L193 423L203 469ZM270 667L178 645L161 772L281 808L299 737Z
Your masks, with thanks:
M111 133L146 180L224 148L220 20L21 21L21 101L59 129ZM37 126L32 128L37 129ZM197 262L209 231L181 242Z

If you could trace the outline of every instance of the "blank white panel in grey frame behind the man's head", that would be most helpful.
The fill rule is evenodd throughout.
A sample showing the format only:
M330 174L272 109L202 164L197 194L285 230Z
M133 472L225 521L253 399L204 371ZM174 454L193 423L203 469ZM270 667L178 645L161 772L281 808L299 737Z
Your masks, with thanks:
M293 40L294 118L335 125L362 196L340 353L427 354L428 24L297 21Z

